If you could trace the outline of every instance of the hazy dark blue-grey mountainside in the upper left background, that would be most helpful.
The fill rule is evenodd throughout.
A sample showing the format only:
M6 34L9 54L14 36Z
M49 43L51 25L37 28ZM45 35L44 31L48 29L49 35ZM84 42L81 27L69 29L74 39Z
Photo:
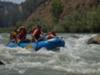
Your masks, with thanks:
M0 27L25 21L46 0L26 0L21 4L0 1Z

